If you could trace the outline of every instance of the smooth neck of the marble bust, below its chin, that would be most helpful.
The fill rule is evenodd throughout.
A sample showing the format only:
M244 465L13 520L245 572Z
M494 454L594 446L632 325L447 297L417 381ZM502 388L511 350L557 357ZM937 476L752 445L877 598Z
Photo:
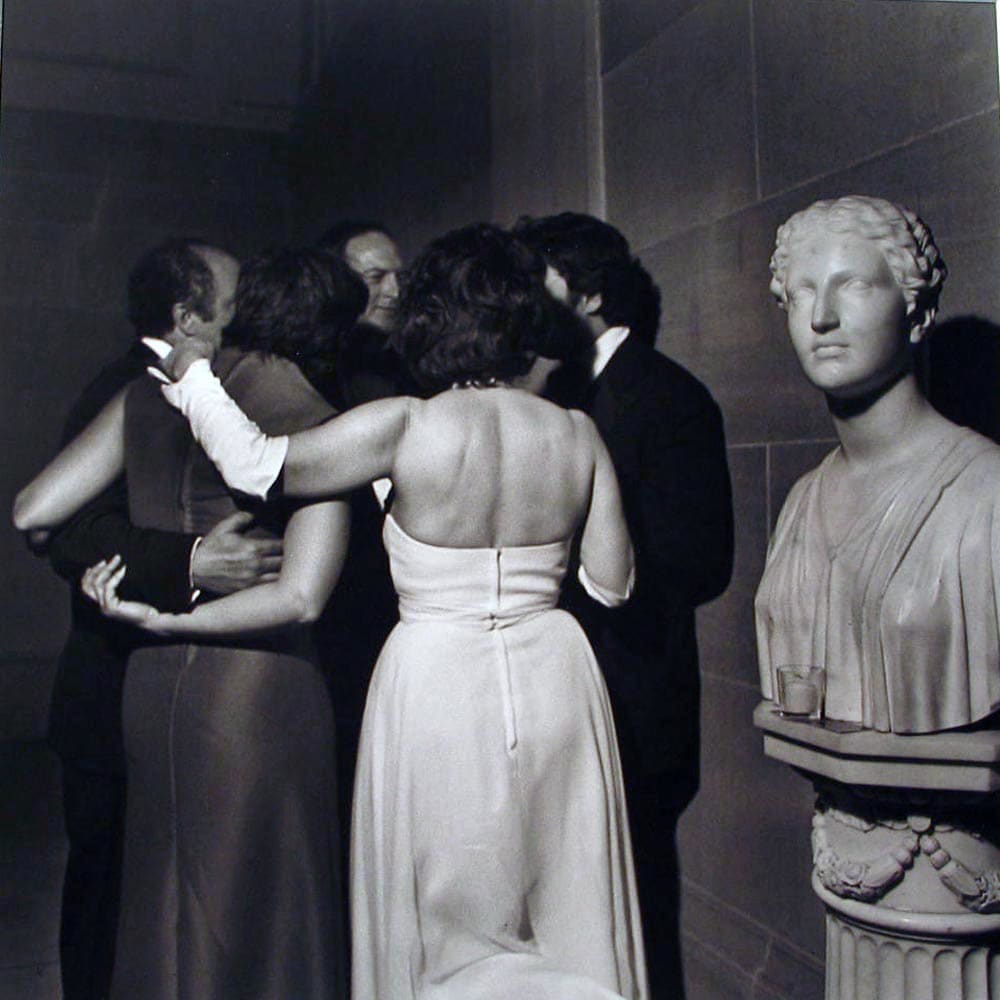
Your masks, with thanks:
M867 396L827 397L844 460L857 471L905 462L946 423L927 402L912 371Z

